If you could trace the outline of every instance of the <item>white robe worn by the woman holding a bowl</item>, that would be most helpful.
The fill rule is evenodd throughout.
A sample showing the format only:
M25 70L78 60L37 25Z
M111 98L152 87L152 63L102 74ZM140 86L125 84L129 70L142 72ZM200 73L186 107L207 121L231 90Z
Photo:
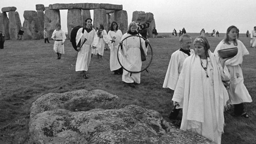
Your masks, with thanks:
M252 102L252 98L243 83L243 72L240 67L240 65L243 63L243 56L249 55L249 52L246 49L245 45L239 40L237 40L237 46L235 46L233 42L230 42L230 44L226 44L224 43L224 41L221 41L215 48L214 54L218 55L218 50L233 47L238 48L237 55L232 59L228 59L225 62L225 65L228 67L231 77L231 84L228 89L230 94L230 101L232 104Z

